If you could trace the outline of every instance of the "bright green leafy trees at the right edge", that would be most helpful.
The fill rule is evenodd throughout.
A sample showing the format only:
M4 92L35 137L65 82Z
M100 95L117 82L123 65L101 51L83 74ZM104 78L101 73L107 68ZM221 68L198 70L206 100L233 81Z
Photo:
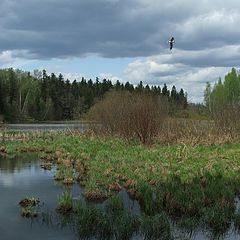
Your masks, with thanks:
M212 87L208 82L204 102L217 126L224 130L240 130L240 74L233 68L224 81L219 78Z

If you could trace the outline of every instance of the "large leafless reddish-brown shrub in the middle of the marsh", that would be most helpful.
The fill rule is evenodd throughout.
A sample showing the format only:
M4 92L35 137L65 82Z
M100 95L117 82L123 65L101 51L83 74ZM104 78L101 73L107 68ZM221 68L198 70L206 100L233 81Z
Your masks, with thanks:
M167 101L159 96L112 91L90 110L90 116L106 132L148 144L159 133L167 112Z

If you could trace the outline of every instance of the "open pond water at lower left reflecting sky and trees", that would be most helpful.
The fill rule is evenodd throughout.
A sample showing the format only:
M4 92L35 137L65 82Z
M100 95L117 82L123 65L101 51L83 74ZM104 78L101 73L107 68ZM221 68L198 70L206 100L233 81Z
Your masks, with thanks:
M62 187L54 184L52 173L39 167L36 155L0 159L0 239L40 240L75 239L70 229L55 231L21 217L18 202L26 197L39 198L43 211L55 209ZM78 187L73 187L76 195Z

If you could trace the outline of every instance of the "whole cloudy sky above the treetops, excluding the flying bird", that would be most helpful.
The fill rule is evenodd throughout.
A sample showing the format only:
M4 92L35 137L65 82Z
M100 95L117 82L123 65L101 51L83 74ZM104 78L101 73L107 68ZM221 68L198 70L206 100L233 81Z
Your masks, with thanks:
M0 67L167 83L202 102L239 66L239 24L237 0L1 0Z

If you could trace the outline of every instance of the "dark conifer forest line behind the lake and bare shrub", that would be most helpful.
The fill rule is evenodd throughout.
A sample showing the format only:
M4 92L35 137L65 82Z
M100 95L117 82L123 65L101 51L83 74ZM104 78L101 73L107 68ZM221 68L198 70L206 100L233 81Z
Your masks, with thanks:
M29 72L9 69L0 70L0 114L6 121L45 121L79 119L90 107L101 100L110 90L149 93L165 96L170 103L170 113L187 107L183 89L171 91L166 84L160 86L137 86L126 82L96 78L64 79L62 74L47 74L45 70Z

